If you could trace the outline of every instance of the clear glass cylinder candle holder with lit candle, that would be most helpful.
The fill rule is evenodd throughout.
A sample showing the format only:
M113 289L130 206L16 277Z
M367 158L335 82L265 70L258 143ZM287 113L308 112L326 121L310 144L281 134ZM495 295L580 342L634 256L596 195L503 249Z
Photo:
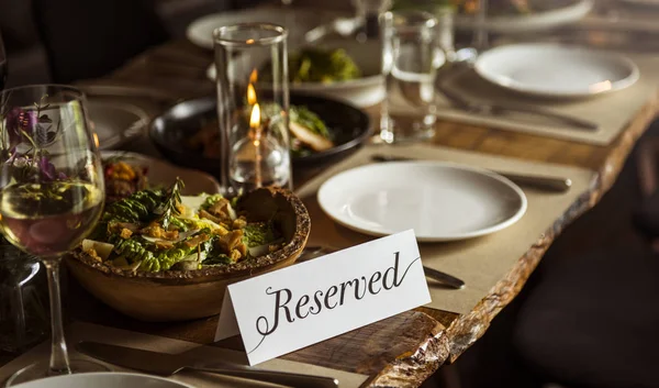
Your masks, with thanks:
M287 30L245 23L213 34L222 186L228 195L292 189Z

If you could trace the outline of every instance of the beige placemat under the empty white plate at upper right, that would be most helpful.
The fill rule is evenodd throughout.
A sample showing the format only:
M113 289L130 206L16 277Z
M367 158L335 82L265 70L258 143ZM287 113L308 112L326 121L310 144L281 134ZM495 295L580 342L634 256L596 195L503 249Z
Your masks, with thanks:
M565 138L594 145L610 144L641 108L652 99L659 98L659 56L628 55L640 69L639 80L632 87L579 100L551 100L530 98L499 88L476 73L468 70L454 76L447 86L470 101L499 101L515 104L529 104L590 120L600 125L596 131L569 128L562 123L534 115L510 113L505 117L468 113L450 108L444 96L439 93L438 115L444 120L458 121L476 125L491 126L501 130L524 132L555 138ZM394 97L394 106L405 107L400 97ZM410 109L406 107L405 109Z

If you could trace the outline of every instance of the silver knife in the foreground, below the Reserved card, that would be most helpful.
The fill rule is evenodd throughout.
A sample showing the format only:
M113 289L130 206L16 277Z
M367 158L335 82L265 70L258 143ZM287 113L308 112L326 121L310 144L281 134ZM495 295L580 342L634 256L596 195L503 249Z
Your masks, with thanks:
M180 370L198 370L299 388L336 388L338 380L331 377L275 372L249 366L212 361L211 363L179 354L144 351L98 342L82 341L76 350L110 364L142 370L158 376L171 376ZM211 364L212 366L206 366Z

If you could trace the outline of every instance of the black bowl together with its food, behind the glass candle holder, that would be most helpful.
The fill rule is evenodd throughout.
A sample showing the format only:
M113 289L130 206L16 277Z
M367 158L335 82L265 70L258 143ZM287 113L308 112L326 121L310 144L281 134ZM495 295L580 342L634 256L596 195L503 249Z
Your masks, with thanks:
M366 113L325 97L291 93L291 156L294 166L339 156L371 134ZM177 165L213 175L221 170L216 99L182 101L154 119L149 136L158 151Z

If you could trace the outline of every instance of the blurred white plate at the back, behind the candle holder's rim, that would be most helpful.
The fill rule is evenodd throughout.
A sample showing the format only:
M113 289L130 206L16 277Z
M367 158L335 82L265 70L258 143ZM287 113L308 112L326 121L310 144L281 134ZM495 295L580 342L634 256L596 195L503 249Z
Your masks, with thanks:
M234 12L213 13L188 25L186 35L193 44L213 49L213 30L237 23L275 23L289 31L289 48L295 40L303 41L311 29L346 14L321 9L254 8Z

